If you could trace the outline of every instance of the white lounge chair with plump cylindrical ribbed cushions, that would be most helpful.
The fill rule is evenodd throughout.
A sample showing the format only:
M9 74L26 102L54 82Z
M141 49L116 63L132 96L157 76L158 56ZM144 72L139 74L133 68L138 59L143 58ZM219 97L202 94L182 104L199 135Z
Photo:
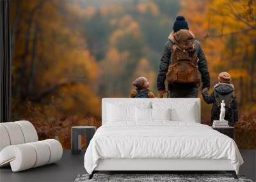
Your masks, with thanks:
M23 171L56 162L62 152L58 140L38 141L29 121L0 123L0 167L11 165L13 172Z

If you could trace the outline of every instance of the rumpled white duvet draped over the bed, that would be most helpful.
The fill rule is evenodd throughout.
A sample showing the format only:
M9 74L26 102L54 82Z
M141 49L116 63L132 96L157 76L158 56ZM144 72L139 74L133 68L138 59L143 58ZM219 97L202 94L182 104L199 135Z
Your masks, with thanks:
M177 121L100 126L84 155L86 171L92 174L99 159L106 158L229 159L237 174L243 164L230 137L207 125Z

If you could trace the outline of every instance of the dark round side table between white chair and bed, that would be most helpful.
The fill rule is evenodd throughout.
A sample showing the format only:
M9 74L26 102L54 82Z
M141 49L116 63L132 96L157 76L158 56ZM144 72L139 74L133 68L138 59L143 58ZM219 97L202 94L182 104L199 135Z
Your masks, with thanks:
M79 154L82 150L81 135L86 135L86 149L96 131L95 126L72 126L71 128L71 153Z

